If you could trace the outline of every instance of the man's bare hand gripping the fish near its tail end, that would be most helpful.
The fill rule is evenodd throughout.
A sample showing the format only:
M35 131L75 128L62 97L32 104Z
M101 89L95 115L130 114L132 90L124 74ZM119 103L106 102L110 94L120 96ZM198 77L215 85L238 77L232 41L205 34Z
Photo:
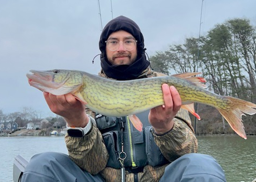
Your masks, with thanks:
M162 91L165 105L152 108L148 115L148 120L158 135L173 128L173 118L181 107L180 94L174 86L163 84Z

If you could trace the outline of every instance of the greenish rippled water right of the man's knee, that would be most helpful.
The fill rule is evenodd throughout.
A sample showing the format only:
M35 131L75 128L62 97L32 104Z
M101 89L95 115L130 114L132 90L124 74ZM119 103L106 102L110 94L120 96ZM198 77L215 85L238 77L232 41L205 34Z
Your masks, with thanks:
M256 137L197 137L199 153L212 155L228 182L252 182L256 178Z

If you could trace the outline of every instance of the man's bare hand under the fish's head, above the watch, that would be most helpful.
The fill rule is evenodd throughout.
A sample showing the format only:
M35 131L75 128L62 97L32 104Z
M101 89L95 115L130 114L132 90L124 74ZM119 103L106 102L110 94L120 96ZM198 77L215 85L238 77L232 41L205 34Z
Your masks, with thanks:
M64 117L68 126L85 127L89 122L84 104L72 94L56 96L44 92L44 97L50 110Z

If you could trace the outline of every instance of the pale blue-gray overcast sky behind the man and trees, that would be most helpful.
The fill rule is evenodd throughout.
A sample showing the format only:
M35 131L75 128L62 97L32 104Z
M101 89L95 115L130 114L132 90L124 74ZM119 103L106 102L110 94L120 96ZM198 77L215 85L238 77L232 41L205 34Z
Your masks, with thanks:
M100 0L102 25L112 19L110 0ZM202 0L112 0L113 17L140 27L149 55L198 37ZM255 0L204 0L201 35L216 24L248 18L256 25ZM98 0L0 0L0 110L31 107L51 114L42 92L30 87L29 70L68 69L98 74L101 33Z

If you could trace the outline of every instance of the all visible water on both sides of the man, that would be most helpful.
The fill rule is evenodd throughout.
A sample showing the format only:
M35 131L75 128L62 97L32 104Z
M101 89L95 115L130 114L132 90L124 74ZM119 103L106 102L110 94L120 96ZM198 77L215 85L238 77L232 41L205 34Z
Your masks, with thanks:
M199 153L212 155L225 170L227 182L256 178L256 137L197 137ZM64 137L0 137L0 182L12 182L12 165L18 154L25 159L37 153L67 154Z

